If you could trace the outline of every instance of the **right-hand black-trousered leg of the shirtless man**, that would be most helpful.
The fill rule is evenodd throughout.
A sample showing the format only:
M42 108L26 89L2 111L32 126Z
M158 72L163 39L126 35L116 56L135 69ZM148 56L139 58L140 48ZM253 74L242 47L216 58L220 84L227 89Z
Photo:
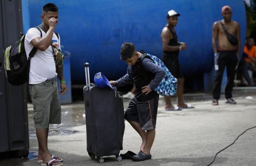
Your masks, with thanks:
M225 88L226 99L232 97L232 90L234 86L234 79L236 75L236 65L238 62L236 53L229 54L229 62L227 63L227 86Z

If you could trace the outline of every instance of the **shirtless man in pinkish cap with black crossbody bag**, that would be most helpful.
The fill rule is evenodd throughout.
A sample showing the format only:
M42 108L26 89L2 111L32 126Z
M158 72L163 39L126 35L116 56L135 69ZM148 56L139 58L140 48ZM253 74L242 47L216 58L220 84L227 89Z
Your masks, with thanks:
M232 10L230 6L223 6L221 14L224 19L216 21L212 28L212 47L215 56L216 71L212 92L212 105L218 105L225 66L227 66L227 86L225 88L226 103L236 104L236 101L232 99L232 90L236 74L236 66L238 64L238 55L241 48L240 27L239 23L231 20ZM217 39L218 49L216 45Z

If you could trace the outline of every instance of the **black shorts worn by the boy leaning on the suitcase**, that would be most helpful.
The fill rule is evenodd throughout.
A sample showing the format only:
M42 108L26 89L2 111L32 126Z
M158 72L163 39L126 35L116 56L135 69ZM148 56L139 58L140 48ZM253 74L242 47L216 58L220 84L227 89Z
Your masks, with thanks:
M157 108L159 95L151 100L138 102L134 97L131 99L125 112L125 119L140 123L142 130L151 130L156 128Z

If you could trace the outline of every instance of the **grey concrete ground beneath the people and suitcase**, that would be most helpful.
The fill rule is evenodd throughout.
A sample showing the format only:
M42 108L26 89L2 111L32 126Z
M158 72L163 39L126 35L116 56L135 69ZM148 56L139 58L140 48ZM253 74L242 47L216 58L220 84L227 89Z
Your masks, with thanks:
M244 130L256 126L256 95L247 99L238 94L238 104L212 106L207 97L190 100L195 109L180 112L166 112L164 100L160 99L157 129L152 159L143 162L117 161L106 157L104 163L91 160L86 151L86 126L82 102L62 106L62 125L51 126L49 150L64 158L64 166L207 166L219 150L228 146ZM187 98L187 97L186 97ZM249 97L250 98L250 97ZM174 102L175 103L175 102ZM125 107L128 100L125 100ZM0 166L40 166L33 152L38 143L32 121L32 107L29 105L30 157L0 160ZM139 152L139 135L125 121L123 150ZM256 128L244 133L233 146L221 152L212 166L256 166Z

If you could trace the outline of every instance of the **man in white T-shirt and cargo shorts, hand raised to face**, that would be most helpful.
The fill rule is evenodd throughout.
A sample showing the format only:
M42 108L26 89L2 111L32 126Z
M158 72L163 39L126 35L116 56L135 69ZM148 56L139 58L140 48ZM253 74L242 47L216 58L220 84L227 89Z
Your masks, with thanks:
M61 51L60 37L54 33L58 23L58 7L53 3L47 3L43 7L41 19L43 21L39 27L42 37L39 29L31 28L27 31L24 41L28 58L33 47L37 49L34 57L30 60L29 94L34 108L34 122L38 139L38 163L45 166L61 166L63 159L51 155L47 146L49 124L61 123L57 75L61 83L60 94L62 95L67 91L63 66L59 67L55 64L53 52L53 49L56 48Z

